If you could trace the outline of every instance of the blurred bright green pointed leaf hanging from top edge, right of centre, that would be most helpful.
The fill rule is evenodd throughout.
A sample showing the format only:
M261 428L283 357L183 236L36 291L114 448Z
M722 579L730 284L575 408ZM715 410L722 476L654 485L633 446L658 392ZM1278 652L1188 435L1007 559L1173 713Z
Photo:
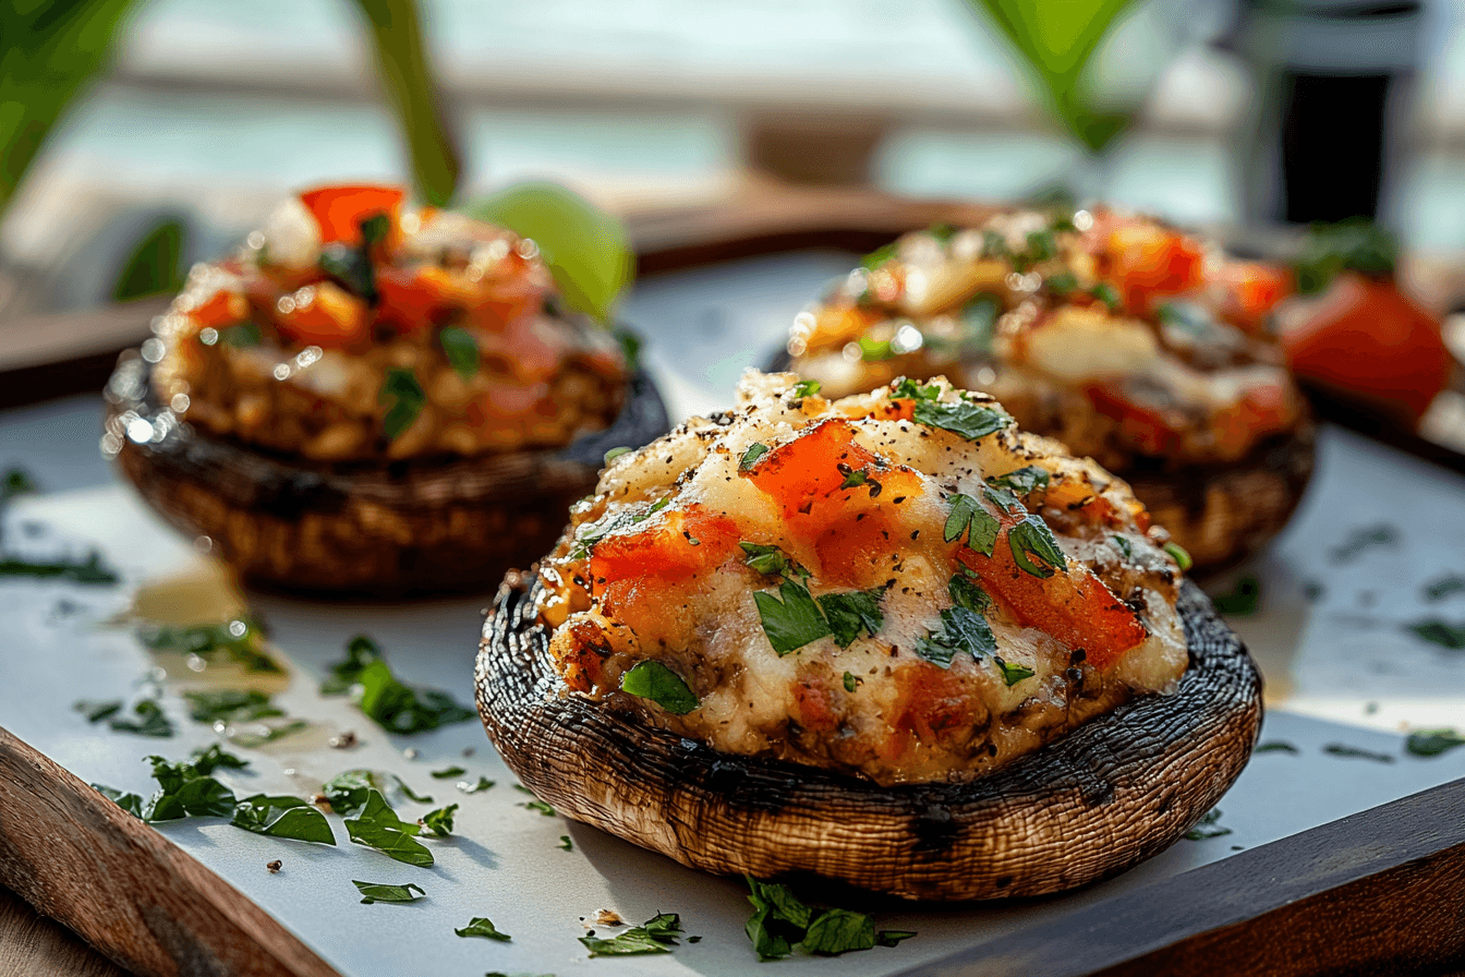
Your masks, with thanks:
M1086 69L1132 0L967 0L1021 54L1058 120L1093 152L1130 125L1132 111L1100 105Z

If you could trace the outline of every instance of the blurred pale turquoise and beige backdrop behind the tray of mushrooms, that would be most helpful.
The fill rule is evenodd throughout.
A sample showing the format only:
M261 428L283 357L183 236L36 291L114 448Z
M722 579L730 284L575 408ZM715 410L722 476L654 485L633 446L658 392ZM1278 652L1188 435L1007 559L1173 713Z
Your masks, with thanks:
M31 6L51 4L12 15ZM363 10L412 4L92 6L97 67L3 212L0 321L113 297L161 218L190 262L292 187L410 177ZM460 201L524 176L631 217L769 180L980 199L1062 187L1187 224L1377 209L1408 249L1465 245L1458 1L1047 4L1081 12L1071 35L1052 13L1024 35L1030 4L996 1L418 6ZM3 101L25 98L15 76L34 67L13 54ZM15 177L26 133L4 126Z

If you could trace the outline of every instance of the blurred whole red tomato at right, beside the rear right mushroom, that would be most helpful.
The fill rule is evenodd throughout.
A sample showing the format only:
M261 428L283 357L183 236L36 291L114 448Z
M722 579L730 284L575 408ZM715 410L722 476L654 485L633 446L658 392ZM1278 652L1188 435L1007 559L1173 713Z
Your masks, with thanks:
M1411 426L1449 384L1439 321L1392 281L1340 274L1285 318L1282 349L1298 376L1362 394Z

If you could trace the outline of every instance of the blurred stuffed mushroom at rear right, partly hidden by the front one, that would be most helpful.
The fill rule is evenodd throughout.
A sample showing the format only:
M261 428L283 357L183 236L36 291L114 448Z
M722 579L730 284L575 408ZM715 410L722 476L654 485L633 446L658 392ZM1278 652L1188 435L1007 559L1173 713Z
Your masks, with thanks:
M1313 467L1272 311L1280 267L1154 220L1005 211L901 237L813 309L788 369L832 394L943 374L1134 486L1220 568L1276 535Z

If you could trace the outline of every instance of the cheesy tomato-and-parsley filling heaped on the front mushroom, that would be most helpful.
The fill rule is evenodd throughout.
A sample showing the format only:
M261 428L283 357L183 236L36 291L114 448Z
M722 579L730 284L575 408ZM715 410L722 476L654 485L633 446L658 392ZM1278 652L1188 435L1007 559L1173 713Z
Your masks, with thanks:
M574 507L536 608L568 694L901 784L1173 690L1179 571L1124 482L945 379L812 387L750 372Z

